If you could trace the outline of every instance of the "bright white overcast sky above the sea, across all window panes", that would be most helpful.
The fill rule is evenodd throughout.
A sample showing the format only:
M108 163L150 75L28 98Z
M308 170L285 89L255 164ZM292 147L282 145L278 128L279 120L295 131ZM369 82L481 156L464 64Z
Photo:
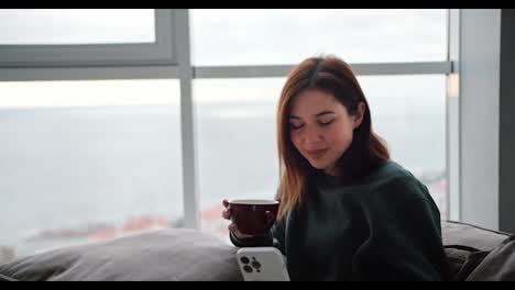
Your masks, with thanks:
M336 54L348 63L441 62L447 53L446 16L445 10L194 9L191 57L198 66L291 65L318 54ZM153 42L153 23L152 10L4 9L0 10L0 44ZM362 79L365 94L423 98L442 86L441 77ZM195 80L194 91L199 102L274 102L283 81ZM4 82L0 90L0 107L179 100L176 80Z

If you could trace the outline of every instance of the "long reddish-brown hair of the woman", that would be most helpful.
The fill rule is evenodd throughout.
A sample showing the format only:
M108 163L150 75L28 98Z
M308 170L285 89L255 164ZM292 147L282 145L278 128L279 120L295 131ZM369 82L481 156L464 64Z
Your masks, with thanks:
M304 90L317 89L332 94L350 114L364 103L363 121L353 132L350 147L337 161L346 180L365 176L372 168L390 159L388 149L372 131L369 103L352 68L335 56L311 57L297 65L288 75L277 108L277 146L281 186L278 219L300 204L307 188L307 177L316 169L304 158L289 137L289 113L295 97Z

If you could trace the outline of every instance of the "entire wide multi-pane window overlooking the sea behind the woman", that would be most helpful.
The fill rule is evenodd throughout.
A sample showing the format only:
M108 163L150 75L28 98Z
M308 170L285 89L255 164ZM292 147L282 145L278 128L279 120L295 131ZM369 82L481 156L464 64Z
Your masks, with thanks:
M198 213L227 241L221 200L275 194L284 77L319 54L359 68L375 132L446 216L447 12L0 11L0 260Z

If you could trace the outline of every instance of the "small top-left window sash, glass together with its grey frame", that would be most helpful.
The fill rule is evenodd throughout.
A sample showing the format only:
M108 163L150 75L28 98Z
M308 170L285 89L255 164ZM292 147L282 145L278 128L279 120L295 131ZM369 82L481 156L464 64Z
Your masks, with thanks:
M169 10L0 11L0 66L174 65Z

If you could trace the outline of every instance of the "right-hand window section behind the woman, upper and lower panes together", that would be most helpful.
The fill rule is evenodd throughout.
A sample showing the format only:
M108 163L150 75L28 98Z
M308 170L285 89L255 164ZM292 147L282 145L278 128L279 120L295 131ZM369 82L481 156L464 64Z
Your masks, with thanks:
M319 54L365 64L355 67L365 71L358 78L373 129L448 216L446 10L195 9L190 14L191 57L201 78L194 91L202 228L227 241L229 222L219 219L223 198L275 194L275 112L285 80L278 76Z

